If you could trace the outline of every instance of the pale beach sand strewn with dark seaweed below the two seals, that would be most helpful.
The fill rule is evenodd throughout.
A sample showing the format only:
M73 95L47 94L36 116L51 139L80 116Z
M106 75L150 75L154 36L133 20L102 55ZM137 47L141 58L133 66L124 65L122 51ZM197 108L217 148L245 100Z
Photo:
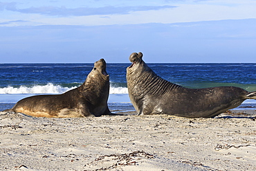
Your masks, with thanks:
M255 110L216 118L132 114L0 112L0 170L256 170Z

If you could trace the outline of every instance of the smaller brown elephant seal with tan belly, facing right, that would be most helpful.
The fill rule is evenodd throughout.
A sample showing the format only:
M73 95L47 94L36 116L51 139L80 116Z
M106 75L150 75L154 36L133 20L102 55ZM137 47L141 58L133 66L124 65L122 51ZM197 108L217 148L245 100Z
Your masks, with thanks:
M93 70L80 87L58 95L24 98L9 111L48 118L111 115L108 98L109 75L106 62L101 59L94 63Z

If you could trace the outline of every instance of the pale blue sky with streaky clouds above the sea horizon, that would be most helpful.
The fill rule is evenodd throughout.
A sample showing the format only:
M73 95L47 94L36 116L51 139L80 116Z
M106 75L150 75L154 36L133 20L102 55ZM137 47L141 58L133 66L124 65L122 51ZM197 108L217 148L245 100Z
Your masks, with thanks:
M256 63L256 0L0 0L0 63Z

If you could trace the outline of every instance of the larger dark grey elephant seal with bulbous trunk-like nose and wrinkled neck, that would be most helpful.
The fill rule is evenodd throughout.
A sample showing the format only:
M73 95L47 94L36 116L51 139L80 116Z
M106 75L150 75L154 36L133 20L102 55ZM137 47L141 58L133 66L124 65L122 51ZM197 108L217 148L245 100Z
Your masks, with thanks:
M159 77L142 59L143 53L132 53L127 68L129 98L138 115L169 114L186 118L211 118L256 100L256 91L239 87L188 89Z

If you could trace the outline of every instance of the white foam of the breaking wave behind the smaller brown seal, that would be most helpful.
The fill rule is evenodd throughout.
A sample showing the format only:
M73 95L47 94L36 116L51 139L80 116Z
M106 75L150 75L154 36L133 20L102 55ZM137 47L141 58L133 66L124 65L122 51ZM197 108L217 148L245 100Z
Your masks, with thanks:
M71 89L75 89L77 87L62 87L60 85L55 85L53 83L48 83L46 85L34 85L32 87L4 87L0 88L0 94L55 94L55 93L64 93ZM120 94L120 93L128 93L128 89L126 87L110 87L110 94Z

